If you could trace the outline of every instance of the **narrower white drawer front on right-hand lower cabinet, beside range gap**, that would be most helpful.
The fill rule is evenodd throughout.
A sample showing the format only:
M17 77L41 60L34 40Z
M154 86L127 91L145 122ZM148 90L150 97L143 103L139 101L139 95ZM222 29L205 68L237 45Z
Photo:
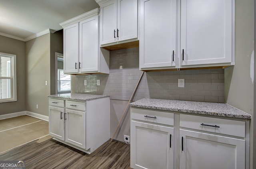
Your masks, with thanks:
M145 122L154 122L174 126L174 114L169 112L160 112L157 110L146 110L131 108L131 118Z

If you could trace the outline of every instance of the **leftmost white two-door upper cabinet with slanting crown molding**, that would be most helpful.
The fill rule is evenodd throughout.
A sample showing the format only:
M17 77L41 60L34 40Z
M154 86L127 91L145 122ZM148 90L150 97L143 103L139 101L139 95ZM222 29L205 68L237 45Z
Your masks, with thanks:
M64 73L109 73L109 52L99 45L99 9L60 23L64 37Z

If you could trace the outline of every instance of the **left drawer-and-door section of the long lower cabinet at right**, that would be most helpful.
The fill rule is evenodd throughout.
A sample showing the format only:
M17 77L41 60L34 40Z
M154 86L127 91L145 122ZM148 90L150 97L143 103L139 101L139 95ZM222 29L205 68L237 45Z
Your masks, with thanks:
M173 113L134 108L131 112L131 168L173 169Z

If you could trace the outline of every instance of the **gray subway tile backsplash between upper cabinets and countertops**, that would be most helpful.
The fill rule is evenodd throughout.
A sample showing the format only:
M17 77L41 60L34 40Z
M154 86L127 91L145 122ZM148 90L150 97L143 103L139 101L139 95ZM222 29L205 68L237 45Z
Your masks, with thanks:
M72 76L72 92L129 100L141 74L138 48L111 51L110 74ZM184 88L178 87L178 79L185 79ZM141 98L224 102L224 69L145 72L133 101Z

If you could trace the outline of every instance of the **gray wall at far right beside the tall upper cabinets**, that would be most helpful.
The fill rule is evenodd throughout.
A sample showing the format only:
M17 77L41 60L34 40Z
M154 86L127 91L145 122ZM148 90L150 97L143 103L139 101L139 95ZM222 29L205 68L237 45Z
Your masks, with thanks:
M255 147L254 117L254 0L236 0L235 65L225 69L225 102L252 115L250 169ZM254 155L256 155L254 153ZM255 163L255 160L254 160ZM254 168L256 166L254 165Z

